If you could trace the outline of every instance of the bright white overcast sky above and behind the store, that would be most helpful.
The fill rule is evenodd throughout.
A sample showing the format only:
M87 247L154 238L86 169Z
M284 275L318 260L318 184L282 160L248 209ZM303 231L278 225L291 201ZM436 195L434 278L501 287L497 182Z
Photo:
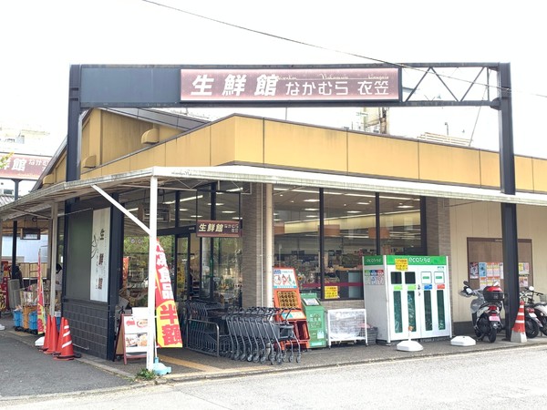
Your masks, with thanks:
M60 142L71 64L509 62L515 152L547 158L547 7L530 4L537 8L505 0L2 1L0 125L44 129ZM466 108L464 118L455 108L404 109L406 130L399 124L397 135L444 133L449 124L452 136L472 134L473 146L499 148L491 108ZM358 110L229 111L350 127Z

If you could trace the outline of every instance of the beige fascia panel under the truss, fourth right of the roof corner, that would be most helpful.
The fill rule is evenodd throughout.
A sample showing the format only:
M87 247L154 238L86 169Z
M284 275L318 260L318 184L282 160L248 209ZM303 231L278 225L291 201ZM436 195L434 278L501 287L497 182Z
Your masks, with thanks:
M438 144L419 144L419 178L480 185L479 151Z

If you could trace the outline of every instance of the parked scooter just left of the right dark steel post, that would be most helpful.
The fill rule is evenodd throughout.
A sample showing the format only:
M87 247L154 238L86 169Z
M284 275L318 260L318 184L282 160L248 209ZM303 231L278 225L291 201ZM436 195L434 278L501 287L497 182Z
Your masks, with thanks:
M488 337L490 343L496 341L498 333L503 330L500 313L503 309L504 293L498 284L486 286L483 290L471 289L470 283L463 282L463 290L459 292L465 297L474 296L470 310L473 328L479 340Z

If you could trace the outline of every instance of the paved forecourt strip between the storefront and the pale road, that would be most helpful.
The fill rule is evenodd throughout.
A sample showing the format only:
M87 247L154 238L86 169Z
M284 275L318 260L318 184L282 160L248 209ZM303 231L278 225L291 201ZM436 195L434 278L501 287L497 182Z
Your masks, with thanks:
M544 344L547 336L540 333L524 342L510 342L499 335L495 343L477 341L472 346L457 346L449 338L419 341L420 351L397 349L398 342L385 344L337 343L331 347L310 349L302 353L300 362L281 364L253 363L227 357L203 354L187 348L159 349L160 363L170 367L170 373L152 382L136 380L146 368L146 359L108 361L82 353L69 361L54 360L36 347L39 336L16 331L9 314L2 314L0 323L0 406L3 401L25 400L35 395L69 395L81 392L139 388L148 383L174 383L231 377L265 372L287 373L300 369L321 369L329 366L405 360L445 354L473 354L492 349L514 349ZM470 335L466 335L471 337ZM79 352L78 352L79 353ZM509 353L509 352L508 352ZM294 356L295 358L295 356Z

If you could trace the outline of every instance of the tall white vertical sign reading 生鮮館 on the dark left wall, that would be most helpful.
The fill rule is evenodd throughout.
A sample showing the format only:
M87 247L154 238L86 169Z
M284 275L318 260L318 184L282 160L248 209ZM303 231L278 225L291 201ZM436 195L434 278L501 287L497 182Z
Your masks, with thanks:
M91 231L91 286L92 301L107 302L108 298L108 248L110 238L110 210L93 211Z

